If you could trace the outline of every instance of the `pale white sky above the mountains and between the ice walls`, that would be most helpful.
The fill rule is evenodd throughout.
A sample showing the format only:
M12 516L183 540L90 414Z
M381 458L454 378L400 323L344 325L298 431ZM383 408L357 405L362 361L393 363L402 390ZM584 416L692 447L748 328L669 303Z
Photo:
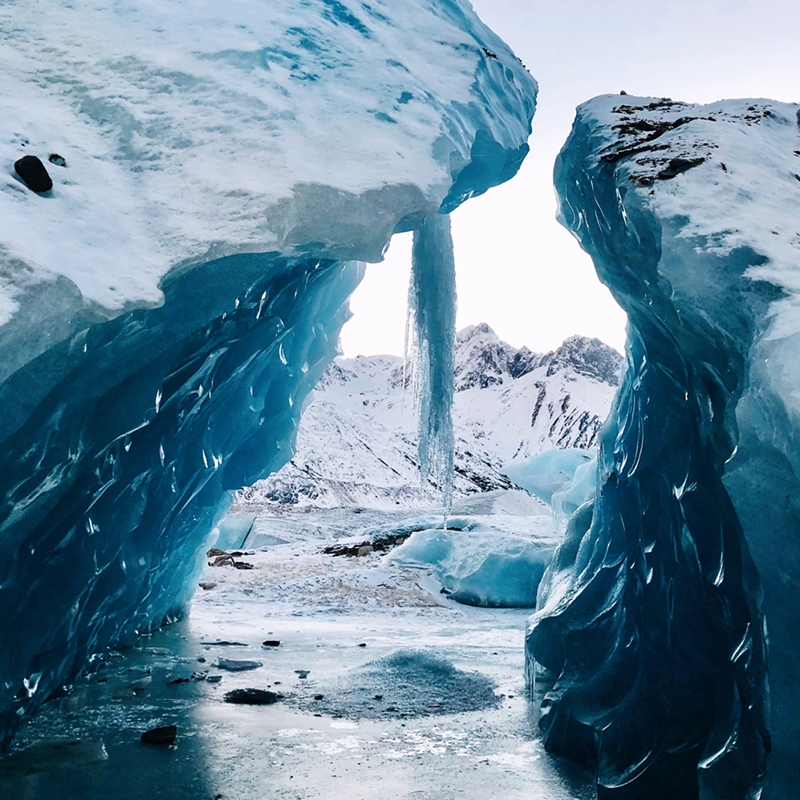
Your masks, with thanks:
M630 95L710 103L800 101L796 0L473 0L539 82L531 153L519 174L452 215L457 327L487 322L536 352L567 336L622 349L625 315L556 221L553 164L581 102ZM342 331L347 356L402 354L411 234L368 265Z

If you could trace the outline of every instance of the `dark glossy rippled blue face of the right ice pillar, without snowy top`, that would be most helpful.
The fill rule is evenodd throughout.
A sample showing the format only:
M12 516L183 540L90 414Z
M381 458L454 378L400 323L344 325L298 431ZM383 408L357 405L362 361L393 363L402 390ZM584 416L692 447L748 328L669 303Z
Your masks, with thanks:
M671 101L593 103L578 110L555 182L561 222L628 314L627 360L600 436L596 498L570 519L540 587L527 636L529 686L543 693L547 748L591 764L603 800L755 799L771 746L762 597L779 582L762 590L723 475L737 445L733 409L753 379L751 347L781 293L743 279L765 261L753 249L721 252L683 232L688 216L660 217L648 199L656 190L638 187L663 176L634 183L609 153L615 115L647 119ZM601 127L597 109L616 106ZM677 125L690 130L688 112L675 118L681 113ZM619 124L625 129L625 119ZM631 130L658 135L657 127ZM723 173L708 170L707 180ZM758 392L759 403L780 407L768 385ZM737 457L759 462L757 449ZM775 485L788 486L785 477ZM739 488L735 499L746 507L752 484ZM750 530L754 542L764 535ZM772 628L770 637L778 652L788 641ZM796 726L797 706L788 710ZM773 797L797 795L793 763L793 778Z

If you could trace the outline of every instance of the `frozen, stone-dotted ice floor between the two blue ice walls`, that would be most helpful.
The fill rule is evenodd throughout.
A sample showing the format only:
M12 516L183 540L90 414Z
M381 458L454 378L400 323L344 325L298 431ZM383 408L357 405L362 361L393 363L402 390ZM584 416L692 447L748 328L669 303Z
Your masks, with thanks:
M467 512L513 525L520 509L484 502ZM424 570L385 565L378 553L321 552L408 516L261 516L261 532L286 543L242 556L253 569L209 567L202 582L215 585L198 591L188 619L111 654L45 706L0 761L0 797L593 797L589 776L552 759L536 737L523 684L528 611L461 606ZM546 516L516 519L531 536L546 528ZM220 658L262 666L233 672L217 666ZM268 706L224 702L237 688L283 697ZM175 746L139 742L169 724L178 728Z

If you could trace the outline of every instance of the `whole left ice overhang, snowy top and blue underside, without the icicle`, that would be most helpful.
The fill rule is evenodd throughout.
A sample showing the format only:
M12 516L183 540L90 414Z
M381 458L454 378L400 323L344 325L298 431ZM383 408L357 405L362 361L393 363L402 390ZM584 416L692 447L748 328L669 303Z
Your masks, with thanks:
M183 613L233 492L291 457L359 262L512 177L537 87L463 0L18 0L0 32L7 743Z

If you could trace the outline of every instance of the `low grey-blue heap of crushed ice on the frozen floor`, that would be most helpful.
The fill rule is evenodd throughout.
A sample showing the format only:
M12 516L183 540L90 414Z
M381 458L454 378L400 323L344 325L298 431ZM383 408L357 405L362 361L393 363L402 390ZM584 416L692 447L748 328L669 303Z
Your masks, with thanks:
M318 688L323 699L309 708L349 719L460 714L500 702L489 678L457 669L434 650L398 650Z

